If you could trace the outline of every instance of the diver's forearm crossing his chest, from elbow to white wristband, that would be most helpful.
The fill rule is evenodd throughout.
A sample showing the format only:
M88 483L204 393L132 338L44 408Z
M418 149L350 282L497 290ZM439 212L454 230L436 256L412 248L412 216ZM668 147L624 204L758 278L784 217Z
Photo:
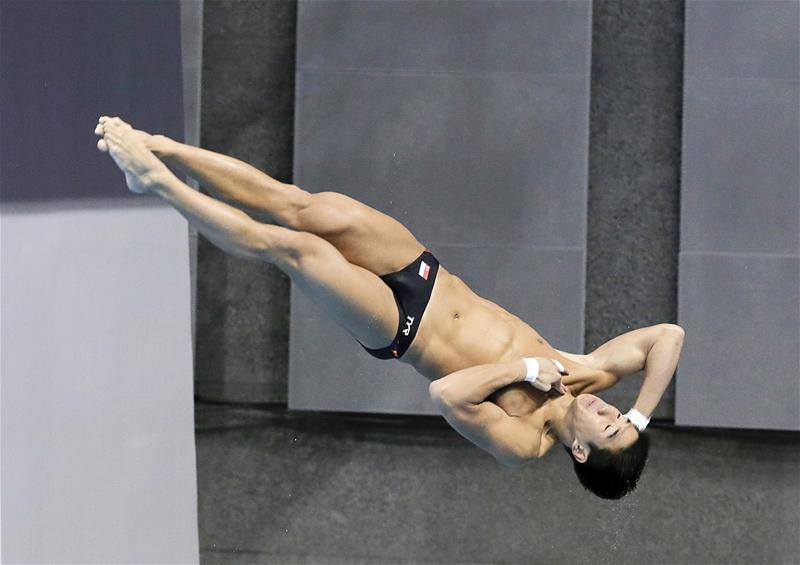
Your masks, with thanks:
M524 381L526 371L522 359L469 367L431 383L431 395L446 405L480 404L493 392Z

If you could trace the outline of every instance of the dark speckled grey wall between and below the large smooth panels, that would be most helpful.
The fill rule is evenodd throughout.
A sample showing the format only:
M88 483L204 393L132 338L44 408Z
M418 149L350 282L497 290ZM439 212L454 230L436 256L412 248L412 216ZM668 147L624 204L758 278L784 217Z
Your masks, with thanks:
M293 4L210 3L206 30L228 30L224 38L235 45L232 30L241 26L251 30L245 34L251 44L262 45L252 29L269 29L272 43L259 51L264 68L293 76L284 41L293 41L287 34L294 23L281 19L287 5ZM268 27L278 21L283 31ZM682 34L682 2L593 3L587 349L627 323L676 320ZM218 132L220 146L244 153L240 129L226 124L246 121L236 118L246 112L259 122L247 151L262 166L288 155L290 167L291 134L282 132L291 131L291 108L273 115L275 90L245 87L261 71L240 63L239 47L230 56L223 44L216 48L220 65L206 62L204 79L216 74L204 82L204 94L216 88L227 95L204 97L204 121L216 120L204 123L204 132ZM224 77L228 86L220 84ZM265 169L290 181L283 163ZM648 224L657 230L648 231ZM627 251L612 253L614 246ZM219 365L246 367L256 359L259 374L275 385L272 398L285 399L285 372L258 361L265 354L252 348L268 341L261 316L283 304L286 281L254 280L238 263L217 261L219 255L201 256L200 283L207 287L201 328L212 326L226 305L243 323L237 332L230 325L216 334L202 329L217 340L206 342L204 354ZM279 335L269 343L285 348L286 321L268 323ZM226 375L222 398L237 391L237 379L256 378L241 370L198 370L209 379ZM793 536L800 527L796 434L655 427L641 489L621 503L605 503L581 491L564 454L554 452L521 475L509 473L438 418L320 417L283 406L241 411L199 404L197 423L205 563L790 563L800 552ZM541 524L546 536L531 533L531 523Z

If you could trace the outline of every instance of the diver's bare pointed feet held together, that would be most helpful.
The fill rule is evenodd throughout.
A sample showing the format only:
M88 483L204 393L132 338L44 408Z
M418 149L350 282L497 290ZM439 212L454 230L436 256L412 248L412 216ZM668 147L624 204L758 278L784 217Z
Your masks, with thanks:
M120 118L108 116L100 117L95 133L103 137L97 142L97 148L111 155L125 173L131 192L149 192L163 175L171 174L147 147L149 133L133 129Z

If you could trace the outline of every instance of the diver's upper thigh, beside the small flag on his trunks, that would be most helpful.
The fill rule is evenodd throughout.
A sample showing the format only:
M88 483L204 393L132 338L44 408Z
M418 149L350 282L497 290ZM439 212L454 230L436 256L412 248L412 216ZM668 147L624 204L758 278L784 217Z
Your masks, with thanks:
M425 250L403 224L338 192L313 194L298 213L297 227L325 238L350 263L376 275L399 271Z

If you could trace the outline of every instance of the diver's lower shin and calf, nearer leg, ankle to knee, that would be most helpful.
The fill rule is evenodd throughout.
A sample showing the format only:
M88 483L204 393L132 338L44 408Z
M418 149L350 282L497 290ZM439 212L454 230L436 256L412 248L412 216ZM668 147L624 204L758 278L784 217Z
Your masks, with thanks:
M193 190L171 172L160 175L149 188L224 251L242 257L250 255L250 228L255 222L241 210Z

